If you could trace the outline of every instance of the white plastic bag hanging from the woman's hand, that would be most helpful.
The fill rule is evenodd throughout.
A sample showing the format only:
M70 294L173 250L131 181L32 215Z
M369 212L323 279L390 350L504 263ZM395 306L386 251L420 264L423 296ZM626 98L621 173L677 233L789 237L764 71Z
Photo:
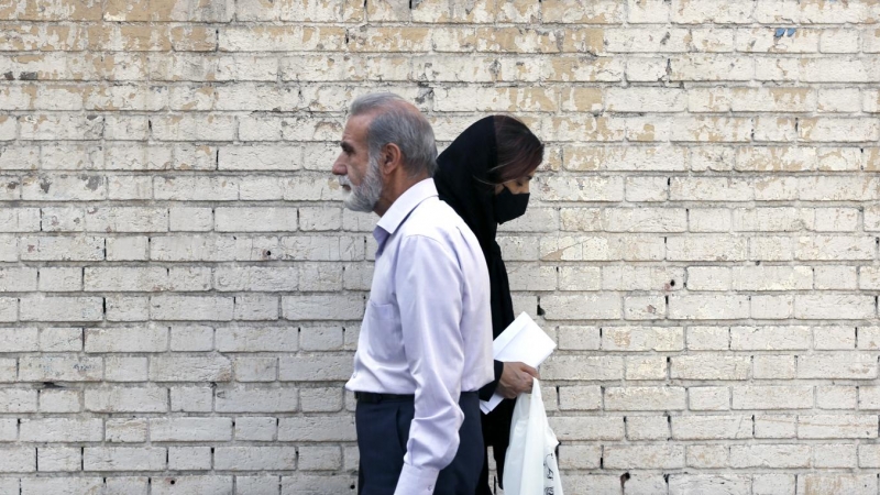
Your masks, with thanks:
M505 495L562 495L557 465L557 436L547 422L538 381L520 394L510 422L510 446L504 461Z

